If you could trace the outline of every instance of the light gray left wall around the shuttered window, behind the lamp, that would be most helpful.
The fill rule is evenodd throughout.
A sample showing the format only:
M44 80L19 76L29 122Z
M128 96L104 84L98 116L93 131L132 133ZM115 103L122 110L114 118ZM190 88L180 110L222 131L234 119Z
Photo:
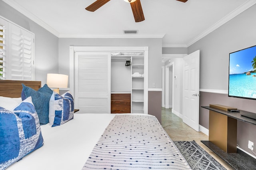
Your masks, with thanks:
M35 34L35 80L46 83L47 73L58 73L58 37L0 0L0 16Z

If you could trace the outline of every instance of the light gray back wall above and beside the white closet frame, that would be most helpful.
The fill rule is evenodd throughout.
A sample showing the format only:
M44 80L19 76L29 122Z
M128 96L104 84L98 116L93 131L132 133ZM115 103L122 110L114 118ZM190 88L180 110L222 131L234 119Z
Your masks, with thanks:
M148 88L162 88L162 38L59 38L59 72L69 75L69 47L148 46Z

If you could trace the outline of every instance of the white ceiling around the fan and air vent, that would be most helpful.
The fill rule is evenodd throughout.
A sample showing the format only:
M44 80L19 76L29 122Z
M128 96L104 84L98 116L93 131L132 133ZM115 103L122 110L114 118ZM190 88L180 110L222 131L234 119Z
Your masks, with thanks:
M140 0L145 20L130 4L111 0L95 12L95 0L3 0L59 38L162 38L163 47L187 47L234 18L256 0ZM138 30L124 35L123 30Z

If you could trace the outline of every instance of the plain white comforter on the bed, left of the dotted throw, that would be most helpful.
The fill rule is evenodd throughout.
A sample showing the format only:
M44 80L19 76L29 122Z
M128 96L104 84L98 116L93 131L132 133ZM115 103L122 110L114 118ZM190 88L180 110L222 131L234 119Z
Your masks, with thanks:
M64 125L41 126L44 145L7 170L81 170L115 115L76 113Z

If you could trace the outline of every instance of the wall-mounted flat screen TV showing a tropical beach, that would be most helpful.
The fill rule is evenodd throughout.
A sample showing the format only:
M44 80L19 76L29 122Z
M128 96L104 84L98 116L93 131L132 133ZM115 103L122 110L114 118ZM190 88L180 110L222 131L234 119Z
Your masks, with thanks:
M256 45L229 54L228 96L256 100Z

